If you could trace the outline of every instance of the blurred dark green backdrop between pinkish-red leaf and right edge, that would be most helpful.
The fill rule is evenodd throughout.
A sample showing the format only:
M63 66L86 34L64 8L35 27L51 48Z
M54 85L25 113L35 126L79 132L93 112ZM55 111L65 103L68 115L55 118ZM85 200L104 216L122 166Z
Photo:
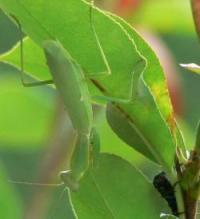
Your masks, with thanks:
M200 44L196 35L168 33L165 35L162 34L161 37L171 50L177 63L178 76L181 81L184 103L182 118L186 121L187 125L189 125L189 129L191 129L194 139L194 131L200 117L200 102L198 101L200 78L198 75L191 74L188 70L183 69L179 66L179 64L188 62L198 64L200 60Z

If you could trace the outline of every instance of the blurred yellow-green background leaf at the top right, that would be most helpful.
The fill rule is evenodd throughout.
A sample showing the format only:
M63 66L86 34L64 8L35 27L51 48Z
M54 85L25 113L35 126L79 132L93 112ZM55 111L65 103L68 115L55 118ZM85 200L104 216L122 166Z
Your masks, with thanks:
M195 33L188 0L143 0L130 19L131 23L162 33Z

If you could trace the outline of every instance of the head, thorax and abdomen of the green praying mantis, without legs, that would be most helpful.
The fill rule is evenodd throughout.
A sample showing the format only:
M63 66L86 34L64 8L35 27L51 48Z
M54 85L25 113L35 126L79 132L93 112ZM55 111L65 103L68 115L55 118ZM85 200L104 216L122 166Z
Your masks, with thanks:
M93 125L90 93L80 66L72 60L59 42L45 41L43 48L55 86L61 94L73 127L77 131L71 171L60 173L63 182L76 190L77 182L89 166L89 146Z

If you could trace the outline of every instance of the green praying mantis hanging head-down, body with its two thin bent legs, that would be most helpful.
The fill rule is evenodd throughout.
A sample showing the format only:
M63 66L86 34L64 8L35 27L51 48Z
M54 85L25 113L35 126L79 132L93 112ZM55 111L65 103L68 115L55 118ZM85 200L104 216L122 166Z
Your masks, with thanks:
M110 74L109 64L101 47L100 40L92 23L93 1L90 2L90 23L94 38L99 48L102 59L107 67L106 72L99 74ZM20 23L12 16L18 23ZM22 31L21 31L22 33ZM90 163L98 156L100 143L96 129L93 127L92 97L87 85L87 78L81 66L71 57L63 45L54 39L43 42L43 50L46 57L46 64L52 76L52 80L27 83L24 80L23 66L23 40L20 40L21 47L21 80L25 87L38 86L54 83L57 91L64 102L72 125L77 133L75 148L71 157L70 170L61 171L62 182L72 191L79 187L79 181L83 177ZM94 79L94 76L91 75ZM104 97L106 98L106 97ZM109 97L108 100L111 100ZM92 153L91 153L92 151ZM91 157L92 154L92 157Z

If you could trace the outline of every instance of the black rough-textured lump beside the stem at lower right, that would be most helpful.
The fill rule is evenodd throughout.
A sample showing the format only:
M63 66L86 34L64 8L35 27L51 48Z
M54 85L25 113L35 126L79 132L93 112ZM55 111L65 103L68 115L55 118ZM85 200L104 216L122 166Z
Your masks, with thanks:
M153 185L167 201L173 215L179 216L174 187L167 179L165 172L161 172L154 177Z

